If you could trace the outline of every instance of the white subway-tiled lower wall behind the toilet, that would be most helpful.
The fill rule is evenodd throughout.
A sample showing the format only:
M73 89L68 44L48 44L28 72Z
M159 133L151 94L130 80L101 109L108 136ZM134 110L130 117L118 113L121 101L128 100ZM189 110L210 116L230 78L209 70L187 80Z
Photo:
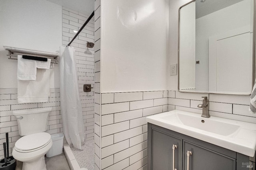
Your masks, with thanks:
M12 111L19 109L32 109L52 107L48 117L47 133L62 132L62 119L60 115L60 89L50 88L50 97L46 103L18 104L17 89L0 89L0 159L4 156L3 142L6 142L5 133L9 133L9 152L12 153L15 142L20 139L18 123Z

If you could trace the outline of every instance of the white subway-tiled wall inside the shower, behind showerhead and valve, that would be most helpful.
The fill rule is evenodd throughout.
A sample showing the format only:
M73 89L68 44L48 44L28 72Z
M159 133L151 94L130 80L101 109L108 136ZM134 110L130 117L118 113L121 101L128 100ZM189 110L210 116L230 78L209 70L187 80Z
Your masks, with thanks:
M62 45L66 46L82 27L88 16L62 7ZM90 20L71 46L75 49L78 87L84 118L86 140L94 139L94 48L87 48L86 41L94 42L94 20ZM91 92L84 92L84 84L92 84Z

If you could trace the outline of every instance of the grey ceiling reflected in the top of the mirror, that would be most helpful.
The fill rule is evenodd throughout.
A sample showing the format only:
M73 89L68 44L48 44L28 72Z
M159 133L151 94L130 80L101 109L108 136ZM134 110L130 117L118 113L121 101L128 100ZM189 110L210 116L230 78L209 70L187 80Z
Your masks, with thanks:
M196 0L196 18L206 16L243 0Z

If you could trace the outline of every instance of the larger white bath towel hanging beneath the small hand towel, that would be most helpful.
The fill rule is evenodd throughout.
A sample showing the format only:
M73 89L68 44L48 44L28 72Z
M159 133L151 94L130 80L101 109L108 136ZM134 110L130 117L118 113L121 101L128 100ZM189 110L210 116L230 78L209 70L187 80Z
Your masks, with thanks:
M36 81L18 80L18 103L48 102L50 69L37 69Z

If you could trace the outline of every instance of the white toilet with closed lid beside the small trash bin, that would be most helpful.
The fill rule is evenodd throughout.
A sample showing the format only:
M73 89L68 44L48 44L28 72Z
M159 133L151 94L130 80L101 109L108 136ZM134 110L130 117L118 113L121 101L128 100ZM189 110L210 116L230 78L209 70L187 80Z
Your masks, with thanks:
M22 136L12 150L12 156L23 162L22 170L46 170L44 155L52 147L47 130L48 114L52 107L13 111Z

